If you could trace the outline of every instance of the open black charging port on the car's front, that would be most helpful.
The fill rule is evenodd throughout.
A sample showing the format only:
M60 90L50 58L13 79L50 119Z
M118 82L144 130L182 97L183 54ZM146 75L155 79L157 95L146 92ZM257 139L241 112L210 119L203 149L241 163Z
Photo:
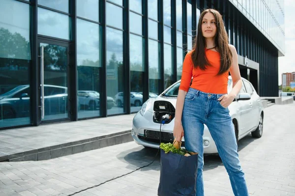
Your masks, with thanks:
M175 117L175 108L172 103L168 101L155 101L153 110L153 121L155 123L162 123L162 121L165 120L167 124Z

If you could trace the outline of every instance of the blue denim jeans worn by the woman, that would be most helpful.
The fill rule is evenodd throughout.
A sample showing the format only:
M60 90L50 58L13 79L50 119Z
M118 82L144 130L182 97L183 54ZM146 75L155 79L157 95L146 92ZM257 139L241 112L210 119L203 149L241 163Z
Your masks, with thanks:
M185 148L199 153L196 196L204 196L204 124L207 125L215 141L218 154L229 174L235 196L248 196L244 172L238 159L234 124L229 109L222 107L218 101L222 95L190 88L184 99L181 122Z

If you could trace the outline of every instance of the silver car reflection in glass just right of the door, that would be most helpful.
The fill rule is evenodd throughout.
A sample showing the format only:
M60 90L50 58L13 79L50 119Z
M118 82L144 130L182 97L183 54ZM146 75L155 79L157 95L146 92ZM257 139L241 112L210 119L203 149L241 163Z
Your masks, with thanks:
M78 90L78 103L80 108L96 110L100 106L99 92L93 90ZM113 108L115 101L107 97L107 109Z

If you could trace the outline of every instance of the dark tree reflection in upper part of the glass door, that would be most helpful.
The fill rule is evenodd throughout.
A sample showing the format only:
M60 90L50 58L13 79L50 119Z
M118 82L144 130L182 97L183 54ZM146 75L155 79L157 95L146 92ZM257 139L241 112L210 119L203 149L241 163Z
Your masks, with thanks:
M63 46L48 44L44 47L45 69L66 71L67 48Z

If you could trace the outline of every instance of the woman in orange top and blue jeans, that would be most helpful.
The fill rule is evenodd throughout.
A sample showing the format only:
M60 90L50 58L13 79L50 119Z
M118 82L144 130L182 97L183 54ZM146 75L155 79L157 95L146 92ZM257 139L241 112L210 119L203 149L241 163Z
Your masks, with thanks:
M228 94L229 72L233 89ZM183 62L173 130L176 140L184 136L188 151L199 153L196 196L204 196L204 124L216 143L235 196L248 196L238 159L235 129L228 109L241 86L236 49L228 44L222 16L214 9L207 9L199 19L194 49L185 56Z

